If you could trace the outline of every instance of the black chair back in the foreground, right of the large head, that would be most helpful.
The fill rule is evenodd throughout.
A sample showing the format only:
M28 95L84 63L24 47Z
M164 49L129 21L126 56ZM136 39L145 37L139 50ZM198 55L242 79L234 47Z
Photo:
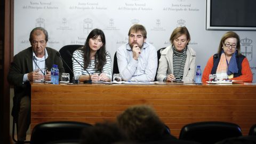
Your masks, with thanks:
M187 124L180 131L180 140L211 144L227 138L240 137L239 125L227 122L198 122Z

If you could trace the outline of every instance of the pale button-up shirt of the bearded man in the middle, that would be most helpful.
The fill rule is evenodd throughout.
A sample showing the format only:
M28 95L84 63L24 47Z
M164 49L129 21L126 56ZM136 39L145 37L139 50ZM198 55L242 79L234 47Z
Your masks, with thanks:
M157 69L157 51L149 44L143 43L138 60L133 59L129 43L116 51L119 73L124 81L154 81Z

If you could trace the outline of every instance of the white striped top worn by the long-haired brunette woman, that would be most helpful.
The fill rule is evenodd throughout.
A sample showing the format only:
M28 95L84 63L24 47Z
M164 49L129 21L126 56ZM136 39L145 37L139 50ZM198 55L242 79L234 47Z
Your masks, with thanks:
M82 65L84 66L84 52L81 50L75 50L73 53L73 57ZM74 78L79 79L79 76L81 75L88 75L88 73L79 65L79 63L76 62L76 60L73 60L73 71L74 71ZM106 52L106 63L103 66L102 70L96 70L95 69L95 59L91 60L89 63L89 66L85 68L89 74L93 73L105 73L110 79L112 78L111 74L111 58L109 52Z

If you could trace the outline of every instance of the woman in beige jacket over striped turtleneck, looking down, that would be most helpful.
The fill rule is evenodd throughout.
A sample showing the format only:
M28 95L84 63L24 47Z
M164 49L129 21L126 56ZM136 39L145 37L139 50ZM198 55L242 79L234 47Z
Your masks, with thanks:
M193 82L195 76L196 52L188 47L190 35L186 27L175 28L170 41L161 52L157 70L157 81Z

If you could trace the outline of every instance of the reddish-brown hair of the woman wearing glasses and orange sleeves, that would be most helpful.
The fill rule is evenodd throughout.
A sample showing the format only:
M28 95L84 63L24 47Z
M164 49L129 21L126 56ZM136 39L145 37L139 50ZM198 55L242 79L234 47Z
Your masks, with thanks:
M237 54L240 55L241 54L240 38L234 31L228 31L221 37L219 49L218 49L219 55L221 54L223 44L225 43L226 39L228 39L228 38L236 38L236 40L237 40L236 50L237 50Z

